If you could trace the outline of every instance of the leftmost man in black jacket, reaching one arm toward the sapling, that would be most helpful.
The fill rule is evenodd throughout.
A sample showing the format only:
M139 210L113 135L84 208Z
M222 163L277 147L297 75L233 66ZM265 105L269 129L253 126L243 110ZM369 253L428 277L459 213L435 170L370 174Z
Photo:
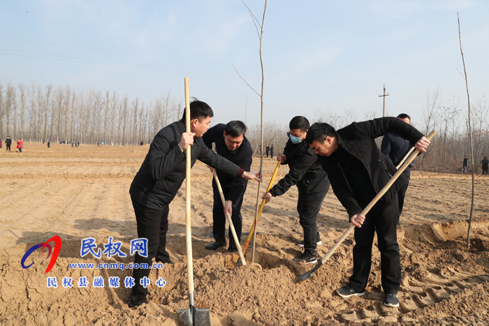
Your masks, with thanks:
M258 172L246 172L205 146L202 135L209 128L213 115L209 105L193 101L190 103L190 132L185 131L184 113L182 120L161 129L149 146L145 161L129 189L136 214L138 237L147 239L147 257L136 253L135 263L151 267L152 258L156 258L156 262L171 263L165 249L168 205L185 179L187 146L191 145L192 166L199 160L230 175L259 180ZM140 281L149 276L150 271L150 268L133 269L136 285L131 291L129 307L147 303L148 290Z

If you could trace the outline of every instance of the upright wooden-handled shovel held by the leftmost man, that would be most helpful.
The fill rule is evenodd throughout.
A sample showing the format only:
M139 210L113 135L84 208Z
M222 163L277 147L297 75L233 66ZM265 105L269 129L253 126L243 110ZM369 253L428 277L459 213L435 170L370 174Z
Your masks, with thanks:
M185 126L187 133L190 132L190 97L189 97L189 78L185 77ZM210 326L209 309L199 309L194 306L194 265L192 262L192 232L190 220L190 145L186 149L187 170L186 170L186 195L185 195L185 231L187 242L187 275L189 276L189 301L187 309L180 309L178 313L178 325L180 326Z

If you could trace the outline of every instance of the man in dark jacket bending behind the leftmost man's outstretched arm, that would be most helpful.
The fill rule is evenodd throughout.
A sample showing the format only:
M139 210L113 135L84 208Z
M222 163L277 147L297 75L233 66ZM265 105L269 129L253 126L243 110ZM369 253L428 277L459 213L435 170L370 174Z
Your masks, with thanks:
M204 144L212 149L212 143L216 145L216 152L227 158L245 171L250 170L253 157L253 149L245 137L246 126L242 121L229 121L228 124L217 124L210 128L202 136ZM242 216L241 205L248 184L247 179L228 175L222 170L216 170L217 177L226 199L226 207L222 207L221 195L216 181L212 179L212 190L214 191L214 206L212 207L212 234L215 241L205 246L205 249L216 250L226 246L226 212L231 215L231 220L238 239L241 239ZM238 244L239 245L239 244ZM238 251L238 247L229 229L229 252Z

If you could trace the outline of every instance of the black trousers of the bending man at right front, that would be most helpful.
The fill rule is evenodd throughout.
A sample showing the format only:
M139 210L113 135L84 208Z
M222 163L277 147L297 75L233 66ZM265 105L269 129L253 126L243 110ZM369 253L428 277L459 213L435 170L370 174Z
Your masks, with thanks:
M382 288L385 293L397 293L401 285L401 262L396 225L397 198L392 202L377 202L365 216L362 227L355 228L353 275L349 279L351 289L363 292L367 286L372 265L374 233L377 232Z

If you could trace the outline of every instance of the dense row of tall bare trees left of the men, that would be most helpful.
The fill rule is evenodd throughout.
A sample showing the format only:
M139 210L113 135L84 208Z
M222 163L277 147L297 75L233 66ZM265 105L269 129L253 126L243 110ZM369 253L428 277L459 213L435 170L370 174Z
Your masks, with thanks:
M0 83L1 139L139 145L181 115L170 91L147 104L115 91Z

